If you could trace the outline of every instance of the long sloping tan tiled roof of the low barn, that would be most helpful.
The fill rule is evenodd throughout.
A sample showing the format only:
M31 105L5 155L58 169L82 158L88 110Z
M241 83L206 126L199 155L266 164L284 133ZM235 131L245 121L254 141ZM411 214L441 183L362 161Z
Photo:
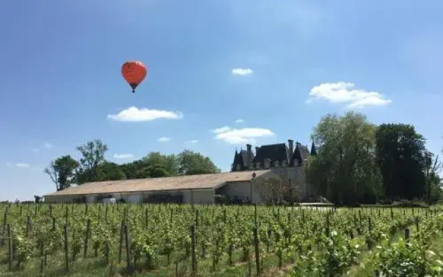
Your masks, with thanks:
M269 172L271 172L271 170L255 170L257 177ZM242 171L150 179L98 181L82 184L73 188L66 188L65 190L44 195L44 197L92 195L100 193L136 193L161 190L215 189L223 186L227 182L249 181L251 178L252 173L250 171Z

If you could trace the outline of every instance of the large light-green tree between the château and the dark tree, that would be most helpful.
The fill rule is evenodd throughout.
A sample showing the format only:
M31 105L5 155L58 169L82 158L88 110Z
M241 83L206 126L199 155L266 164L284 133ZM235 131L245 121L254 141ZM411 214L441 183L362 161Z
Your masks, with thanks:
M327 114L311 135L318 154L307 163L307 179L332 202L374 202L380 175L374 160L375 126L363 114Z

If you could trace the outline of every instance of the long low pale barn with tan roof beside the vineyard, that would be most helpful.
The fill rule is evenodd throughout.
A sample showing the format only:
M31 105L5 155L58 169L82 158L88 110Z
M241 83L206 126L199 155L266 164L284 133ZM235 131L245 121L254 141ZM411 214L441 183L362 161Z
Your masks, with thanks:
M255 172L255 178L253 178ZM98 181L44 195L48 203L92 203L114 198L128 203L175 202L211 204L217 197L235 202L262 203L282 195L272 188L281 184L272 170L224 172L122 181Z

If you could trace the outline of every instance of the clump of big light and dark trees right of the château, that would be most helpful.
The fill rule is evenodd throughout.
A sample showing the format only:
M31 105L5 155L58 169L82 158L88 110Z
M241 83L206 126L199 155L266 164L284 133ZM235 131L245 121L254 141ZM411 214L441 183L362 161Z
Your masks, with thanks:
M443 197L442 163L413 125L374 125L353 111L327 114L311 139L318 153L309 157L307 181L314 194L334 203L434 203Z

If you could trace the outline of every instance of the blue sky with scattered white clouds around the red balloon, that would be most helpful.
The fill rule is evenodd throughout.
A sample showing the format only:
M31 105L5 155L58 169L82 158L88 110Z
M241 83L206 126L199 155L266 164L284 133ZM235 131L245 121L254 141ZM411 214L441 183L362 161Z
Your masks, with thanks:
M307 144L321 116L347 109L412 123L440 153L441 10L426 0L1 1L0 199L52 192L42 170L91 139L118 163L188 148L228 170L247 141ZM127 60L149 68L136 93L120 75Z

